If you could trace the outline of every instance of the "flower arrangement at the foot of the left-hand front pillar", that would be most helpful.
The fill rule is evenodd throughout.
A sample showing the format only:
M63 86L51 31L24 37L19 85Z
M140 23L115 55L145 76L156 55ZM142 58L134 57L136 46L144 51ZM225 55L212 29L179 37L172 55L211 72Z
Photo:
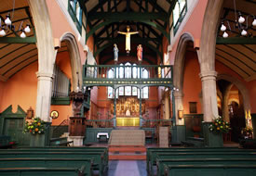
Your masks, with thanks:
M40 118L33 118L31 121L26 121L23 132L33 134L45 132L45 121Z

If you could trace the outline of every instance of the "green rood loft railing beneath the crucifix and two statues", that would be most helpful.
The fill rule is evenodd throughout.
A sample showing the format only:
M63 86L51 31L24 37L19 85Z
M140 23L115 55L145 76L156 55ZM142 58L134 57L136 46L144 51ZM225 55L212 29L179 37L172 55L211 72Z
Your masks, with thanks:
M171 86L172 66L169 65L85 65L85 85L143 84Z

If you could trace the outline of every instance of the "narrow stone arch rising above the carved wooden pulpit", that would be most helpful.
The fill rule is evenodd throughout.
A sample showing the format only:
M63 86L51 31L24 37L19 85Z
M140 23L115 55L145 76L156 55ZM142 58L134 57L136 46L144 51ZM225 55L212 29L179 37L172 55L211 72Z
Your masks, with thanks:
M72 88L73 91L78 85L79 82L79 88L82 88L83 79L82 79L82 65L81 65L81 57L78 49L78 45L76 43L75 37L70 32L65 32L60 39L61 42L67 43L68 52L70 54L71 59L71 69L72 69ZM78 78L77 73L78 72Z

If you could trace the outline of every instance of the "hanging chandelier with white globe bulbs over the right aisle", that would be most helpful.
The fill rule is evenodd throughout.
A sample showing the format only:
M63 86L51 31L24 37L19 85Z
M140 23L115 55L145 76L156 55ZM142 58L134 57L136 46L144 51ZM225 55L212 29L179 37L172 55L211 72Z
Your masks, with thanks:
M254 15L243 15L241 12L236 13L236 0L234 0L234 12L235 12L235 21L230 19L222 19L221 31L223 31L222 37L227 38L228 32L239 32L242 36L251 36L252 33L248 33L249 29L252 29L256 26L256 17ZM237 18L238 17L238 18ZM249 19L252 19L252 23L249 24ZM231 28L230 22L234 22L234 27ZM226 27L227 25L227 27Z

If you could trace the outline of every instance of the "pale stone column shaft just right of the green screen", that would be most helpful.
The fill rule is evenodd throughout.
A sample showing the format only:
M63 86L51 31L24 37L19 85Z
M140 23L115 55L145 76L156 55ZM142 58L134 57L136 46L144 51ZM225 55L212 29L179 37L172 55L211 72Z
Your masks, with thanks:
M178 117L178 110L183 110L183 96L184 94L182 91L174 92L175 109L173 109L173 111L175 113L177 125L184 125L184 119L179 119Z

